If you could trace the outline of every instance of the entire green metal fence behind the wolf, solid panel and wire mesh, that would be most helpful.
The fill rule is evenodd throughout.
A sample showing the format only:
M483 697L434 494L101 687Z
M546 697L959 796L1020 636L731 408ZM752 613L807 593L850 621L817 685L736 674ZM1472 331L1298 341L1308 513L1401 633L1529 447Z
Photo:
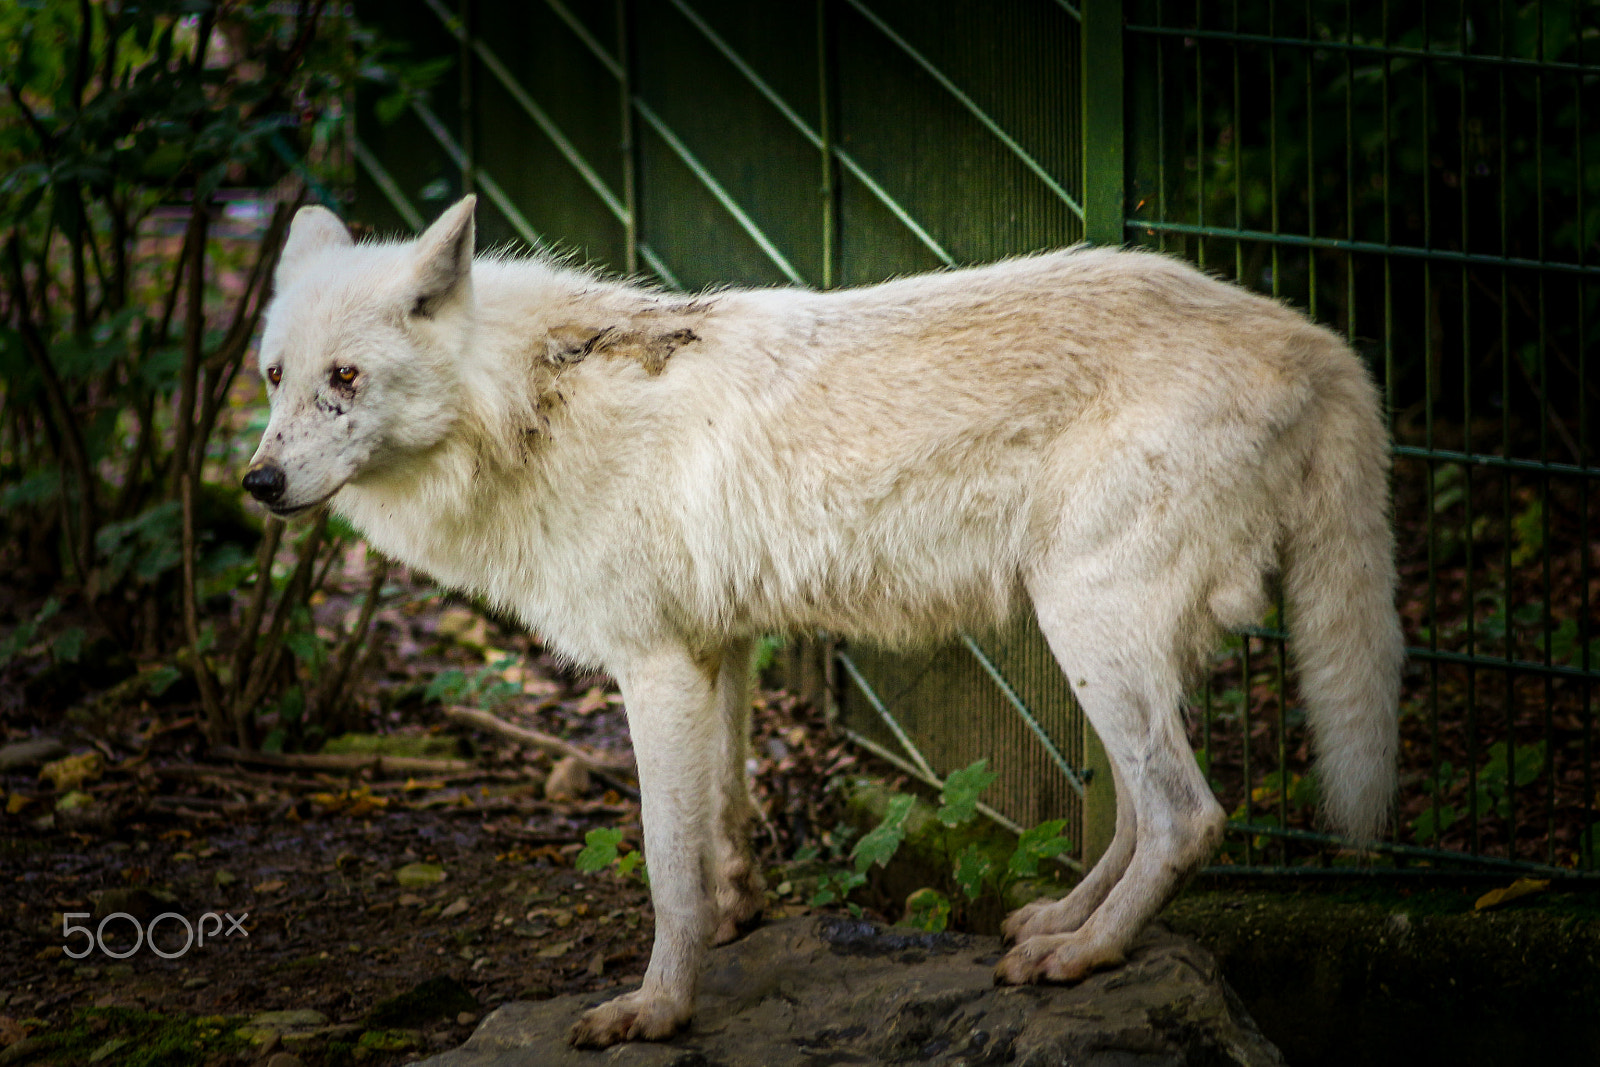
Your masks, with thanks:
M1304 307L1371 360L1397 442L1413 661L1384 854L1594 870L1597 10L358 3L456 62L392 122L358 101L355 210L408 229L472 189L488 242L686 290L1134 242ZM1344 862L1285 664L1278 613L1195 694L1238 869ZM1032 624L816 673L909 773L989 757L994 814L1104 846L1110 776Z

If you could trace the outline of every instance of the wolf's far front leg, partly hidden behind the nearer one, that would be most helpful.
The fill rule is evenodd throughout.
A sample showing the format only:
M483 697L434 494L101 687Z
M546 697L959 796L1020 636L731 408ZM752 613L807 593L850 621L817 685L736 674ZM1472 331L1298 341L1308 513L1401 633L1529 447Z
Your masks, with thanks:
M750 797L750 669L755 645L728 645L717 672L717 933L725 944L754 923L766 904L766 881L755 862L750 830L755 801Z

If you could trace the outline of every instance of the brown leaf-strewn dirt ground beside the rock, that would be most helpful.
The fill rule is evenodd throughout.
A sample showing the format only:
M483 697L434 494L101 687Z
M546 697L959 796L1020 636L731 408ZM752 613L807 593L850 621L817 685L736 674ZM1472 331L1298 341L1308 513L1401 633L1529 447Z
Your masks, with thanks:
M626 753L606 678L462 608L389 624L379 688L510 649L538 696L496 715ZM370 742L389 763L355 771L216 758L181 704L77 725L11 704L0 745L48 736L93 771L67 809L37 763L0 773L0 1064L400 1064L459 1045L504 1000L637 984L648 889L574 865L595 829L638 846L630 777L552 789L550 755L446 723L437 702L374 707L389 704L403 713ZM779 885L854 757L786 693L760 693L755 721L757 846ZM770 913L803 910L798 891L771 894Z

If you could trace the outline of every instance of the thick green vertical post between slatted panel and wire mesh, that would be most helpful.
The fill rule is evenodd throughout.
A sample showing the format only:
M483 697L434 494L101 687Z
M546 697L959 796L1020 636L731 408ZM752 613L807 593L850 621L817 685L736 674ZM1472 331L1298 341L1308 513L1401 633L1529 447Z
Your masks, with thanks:
M1123 242L1123 66L1122 0L1083 0L1083 237ZM1094 865L1117 832L1117 789L1110 760L1088 715L1083 723L1083 867Z

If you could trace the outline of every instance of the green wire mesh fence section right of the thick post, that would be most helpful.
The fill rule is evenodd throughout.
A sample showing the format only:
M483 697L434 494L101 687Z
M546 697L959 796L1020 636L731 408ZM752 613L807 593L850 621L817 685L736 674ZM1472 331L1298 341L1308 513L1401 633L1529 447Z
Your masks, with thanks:
M1600 6L1128 14L1128 238L1306 307L1384 382L1411 643L1394 853L1594 870ZM1243 864L1322 843L1283 664L1282 629L1254 630L1198 701L1202 758L1262 830Z

